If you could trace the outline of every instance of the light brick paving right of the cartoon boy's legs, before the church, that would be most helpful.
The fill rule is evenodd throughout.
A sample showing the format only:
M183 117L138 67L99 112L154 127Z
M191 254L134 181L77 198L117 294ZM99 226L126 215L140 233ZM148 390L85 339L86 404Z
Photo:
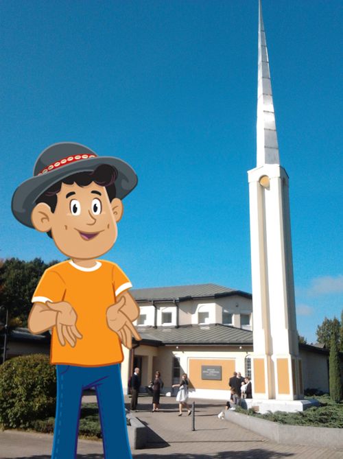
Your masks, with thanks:
M139 399L135 413L151 430L147 448L133 451L134 459L343 459L343 451L274 443L217 414L224 402L195 400L195 432L191 416L178 417L175 399L161 398L161 411L152 413L147 398ZM149 411L148 411L149 409Z

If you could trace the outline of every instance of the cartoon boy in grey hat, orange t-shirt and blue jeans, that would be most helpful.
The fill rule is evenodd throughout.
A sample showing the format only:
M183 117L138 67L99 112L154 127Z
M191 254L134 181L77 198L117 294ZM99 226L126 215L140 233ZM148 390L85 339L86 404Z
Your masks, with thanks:
M29 330L52 329L57 402L51 458L76 458L82 390L95 387L104 456L131 458L121 387L121 343L129 349L139 307L115 263L97 260L115 244L121 200L137 185L134 170L119 158L97 156L78 143L44 150L34 177L14 192L19 222L47 233L69 259L43 274L29 314Z

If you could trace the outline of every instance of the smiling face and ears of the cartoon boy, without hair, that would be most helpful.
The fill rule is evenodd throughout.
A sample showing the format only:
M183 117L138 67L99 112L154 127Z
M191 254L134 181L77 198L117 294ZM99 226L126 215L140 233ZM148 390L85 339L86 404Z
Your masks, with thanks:
M62 183L54 212L40 202L31 215L36 230L51 231L60 252L72 259L93 259L104 255L117 239L117 222L123 215L118 198L108 199L105 187Z

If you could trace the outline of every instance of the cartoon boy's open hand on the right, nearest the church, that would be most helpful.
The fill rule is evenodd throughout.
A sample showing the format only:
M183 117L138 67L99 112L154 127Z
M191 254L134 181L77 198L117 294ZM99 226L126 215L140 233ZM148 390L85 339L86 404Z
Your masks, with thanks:
M132 336L134 336L134 338L136 338L138 341L140 341L142 338L139 336L139 333L137 333L137 330L132 325L130 318L123 311L125 305L126 298L121 296L118 303L115 303L107 309L106 319L108 327L117 333L124 346L126 346L128 349L131 349Z

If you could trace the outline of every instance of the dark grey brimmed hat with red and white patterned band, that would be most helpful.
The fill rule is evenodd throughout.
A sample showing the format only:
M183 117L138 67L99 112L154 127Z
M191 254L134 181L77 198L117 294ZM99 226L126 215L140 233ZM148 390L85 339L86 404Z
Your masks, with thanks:
M14 191L12 213L16 220L30 228L32 209L37 198L51 185L78 172L93 172L97 166L108 164L117 169L116 196L125 198L137 185L137 175L128 163L113 156L97 156L93 150L74 142L54 143L46 148L34 165L34 176Z

